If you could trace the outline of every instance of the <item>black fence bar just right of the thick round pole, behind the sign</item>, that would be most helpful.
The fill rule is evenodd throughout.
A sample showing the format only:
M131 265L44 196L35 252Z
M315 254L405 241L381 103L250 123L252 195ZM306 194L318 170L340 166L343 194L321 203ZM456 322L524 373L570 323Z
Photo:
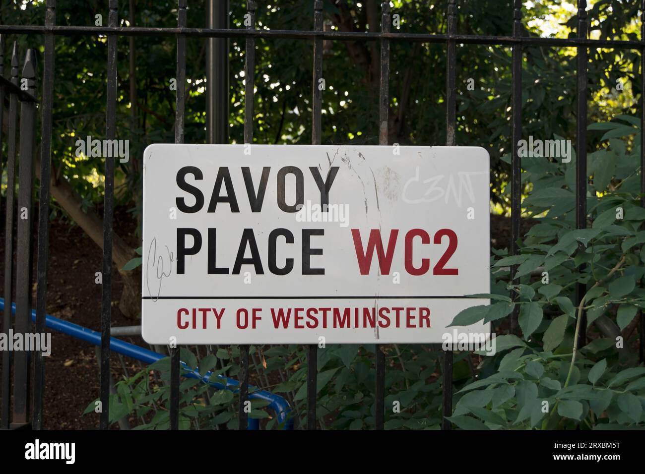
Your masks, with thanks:
M255 2L246 2L246 23L247 30L255 28ZM255 39L246 37L246 50L244 57L244 143L253 143L253 86L255 72ZM248 401L248 345L240 345L240 400L238 406L239 429L248 428L248 412L246 402Z

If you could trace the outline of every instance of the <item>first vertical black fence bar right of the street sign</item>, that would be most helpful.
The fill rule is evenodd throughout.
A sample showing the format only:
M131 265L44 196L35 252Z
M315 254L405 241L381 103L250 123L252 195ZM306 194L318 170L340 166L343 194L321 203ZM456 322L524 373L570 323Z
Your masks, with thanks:
M514 0L513 3L513 36L522 36L522 0ZM513 124L511 131L511 248L510 254L517 255L517 239L520 238L520 219L522 214L522 158L519 155L519 142L522 139L522 44L513 46L512 66L512 87L511 109ZM510 281L517 273L517 265L511 265ZM511 299L517 300L517 293L511 291ZM511 313L511 334L519 333L517 317L519 308L517 305Z

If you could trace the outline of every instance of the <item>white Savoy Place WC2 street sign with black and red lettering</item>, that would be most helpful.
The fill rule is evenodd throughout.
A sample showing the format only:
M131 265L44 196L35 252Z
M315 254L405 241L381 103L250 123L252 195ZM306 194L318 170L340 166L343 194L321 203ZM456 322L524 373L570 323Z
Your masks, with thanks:
M143 178L146 342L490 332L446 329L490 302L483 148L154 144Z

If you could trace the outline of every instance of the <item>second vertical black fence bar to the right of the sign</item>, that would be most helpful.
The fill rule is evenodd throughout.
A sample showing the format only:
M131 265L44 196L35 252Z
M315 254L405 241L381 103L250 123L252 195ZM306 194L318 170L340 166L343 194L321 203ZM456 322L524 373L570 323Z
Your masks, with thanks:
M587 1L578 0L578 37L587 37ZM578 114L577 114L577 153L575 162L575 226L584 229L587 226L587 48L577 48L578 67ZM582 271L582 266L579 268ZM586 292L586 284L579 283L575 289L575 305L578 306L582 295ZM580 331L578 333L578 348L586 345L587 313L582 311Z

